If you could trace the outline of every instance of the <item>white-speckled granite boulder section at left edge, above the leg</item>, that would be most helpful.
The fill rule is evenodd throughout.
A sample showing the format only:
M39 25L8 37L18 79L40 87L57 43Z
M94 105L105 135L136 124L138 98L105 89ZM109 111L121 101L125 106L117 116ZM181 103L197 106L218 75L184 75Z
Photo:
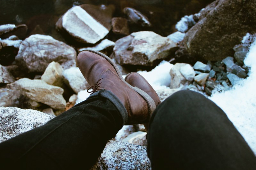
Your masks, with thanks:
M41 126L54 117L31 109L0 107L0 143Z

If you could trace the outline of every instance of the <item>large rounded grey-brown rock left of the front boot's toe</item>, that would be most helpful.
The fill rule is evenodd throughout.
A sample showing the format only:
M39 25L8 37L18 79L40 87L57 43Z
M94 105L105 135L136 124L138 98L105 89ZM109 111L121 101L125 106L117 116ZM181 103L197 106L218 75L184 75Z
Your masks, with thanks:
M15 60L28 72L43 73L52 61L60 63L64 69L75 66L76 51L51 36L35 34L22 41Z

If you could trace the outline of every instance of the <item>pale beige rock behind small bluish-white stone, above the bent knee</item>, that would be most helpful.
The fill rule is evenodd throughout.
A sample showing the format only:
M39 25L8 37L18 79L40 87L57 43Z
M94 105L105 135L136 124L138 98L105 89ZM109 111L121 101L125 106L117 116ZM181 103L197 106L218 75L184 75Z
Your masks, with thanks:
M170 70L171 84L170 88L175 89L185 85L188 80L181 74L180 69L186 66L186 63L176 63Z

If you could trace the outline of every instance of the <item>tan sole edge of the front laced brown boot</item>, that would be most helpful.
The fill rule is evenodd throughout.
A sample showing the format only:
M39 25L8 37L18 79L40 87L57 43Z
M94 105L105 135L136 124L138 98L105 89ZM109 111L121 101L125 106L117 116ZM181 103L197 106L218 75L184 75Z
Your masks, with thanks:
M95 51L95 50L88 50L88 49L86 49L86 50L83 50L83 51L89 51L89 52L95 53L95 54L100 55L101 57L105 58L105 59L114 67L114 69L116 70L116 73L117 73L118 77L119 77L126 85L128 85L130 88L132 88L135 92L137 92L138 94L140 94L140 96L141 96L141 97L147 102L147 104L148 104L148 112L150 113L150 115L148 116L147 119L149 120L150 116L152 115L152 113L153 113L154 110L156 109L156 104L155 104L154 100L153 100L146 92L142 91L142 90L139 89L138 87L133 87L133 86L131 86L129 83L127 83L127 82L124 80L124 78L123 78L121 72L120 72L119 69L117 68L116 63L114 63L114 62L111 60L111 58L109 58L107 55L102 54L102 53L100 53L99 51ZM81 51L81 52L83 52L83 51ZM80 52L80 53L81 53L81 52ZM142 121L140 121L140 122L131 122L131 123L145 123L145 122L143 122L143 120L142 120Z

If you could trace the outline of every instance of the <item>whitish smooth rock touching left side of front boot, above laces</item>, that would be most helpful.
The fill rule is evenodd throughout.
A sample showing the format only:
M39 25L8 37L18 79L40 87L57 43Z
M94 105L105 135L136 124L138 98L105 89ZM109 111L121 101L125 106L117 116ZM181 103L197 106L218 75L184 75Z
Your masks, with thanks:
M76 94L90 86L78 67L64 70L62 75L64 76L66 85L70 86Z

